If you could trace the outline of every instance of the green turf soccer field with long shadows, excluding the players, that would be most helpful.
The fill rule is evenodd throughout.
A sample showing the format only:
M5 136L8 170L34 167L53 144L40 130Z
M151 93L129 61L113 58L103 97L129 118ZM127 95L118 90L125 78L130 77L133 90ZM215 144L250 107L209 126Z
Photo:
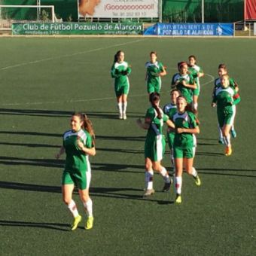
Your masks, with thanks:
M132 65L127 120L117 119L114 53ZM145 62L151 50L167 66L160 105L169 102L177 62L197 56L203 67L197 168L202 186L184 173L182 203L172 185L143 199L145 130L136 125L148 108ZM256 251L256 41L248 38L0 38L1 255L252 255ZM233 154L218 145L211 108L213 80L224 62L240 88ZM90 157L95 224L69 231L62 203L64 157L54 155L73 111L96 130ZM164 166L169 168L166 148ZM82 203L74 199L82 213ZM83 216L84 213L83 213ZM85 219L85 218L84 218ZM254 251L254 252L253 252Z

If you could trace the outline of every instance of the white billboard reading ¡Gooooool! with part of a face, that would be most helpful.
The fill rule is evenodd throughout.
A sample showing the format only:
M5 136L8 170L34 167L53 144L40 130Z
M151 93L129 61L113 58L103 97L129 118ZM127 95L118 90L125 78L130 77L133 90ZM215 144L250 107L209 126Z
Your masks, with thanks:
M78 17L157 18L158 0L78 0Z

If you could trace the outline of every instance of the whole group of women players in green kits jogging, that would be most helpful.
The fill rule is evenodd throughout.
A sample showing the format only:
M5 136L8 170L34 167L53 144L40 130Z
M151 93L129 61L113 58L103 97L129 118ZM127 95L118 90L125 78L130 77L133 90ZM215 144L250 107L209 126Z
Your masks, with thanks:
M170 103L160 108L161 77L166 75L166 68L157 60L157 53L150 53L150 61L146 62L146 84L151 107L148 108L145 119L138 119L142 129L148 130L145 139L145 193L143 197L154 194L154 170L163 176L163 191L168 191L172 178L161 160L166 147L163 136L163 123L166 123L167 142L172 152L172 164L175 170L175 203L181 203L181 187L183 169L192 175L197 186L201 185L200 177L194 168L194 156L197 146L196 134L200 133L197 119L198 97L200 95L200 78L203 70L197 66L195 56L189 56L188 62L178 62L178 72L172 77ZM114 55L111 66L111 77L114 78L114 91L117 97L119 118L126 120L127 96L129 94L129 75L131 66L124 60L123 50ZM226 145L225 155L232 154L230 131L236 137L233 121L236 114L236 104L239 103L238 85L227 75L224 64L218 66L219 77L215 79L212 93L212 106L217 106L220 139L219 143ZM56 158L66 152L66 164L62 175L62 197L74 217L71 230L75 230L81 222L81 215L72 193L75 186L84 209L87 212L85 229L93 227L93 202L89 196L90 162L89 156L96 154L93 126L85 114L72 114L71 130L64 133L63 145Z

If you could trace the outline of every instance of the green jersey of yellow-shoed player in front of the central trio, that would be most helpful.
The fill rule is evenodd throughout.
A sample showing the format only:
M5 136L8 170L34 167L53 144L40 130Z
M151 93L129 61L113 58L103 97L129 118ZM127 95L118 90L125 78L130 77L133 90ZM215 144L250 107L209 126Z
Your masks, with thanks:
M197 127L196 116L190 111L178 112L172 117L176 128L194 129ZM175 133L174 147L191 148L194 146L192 133Z

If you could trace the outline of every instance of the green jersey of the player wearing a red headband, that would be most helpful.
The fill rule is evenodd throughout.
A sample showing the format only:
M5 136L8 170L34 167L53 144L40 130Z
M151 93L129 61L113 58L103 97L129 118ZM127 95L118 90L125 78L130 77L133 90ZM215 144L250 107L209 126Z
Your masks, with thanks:
M175 82L178 81L176 88L181 92L181 94L185 97L187 100L187 103L191 103L192 100L192 90L190 88L184 87L183 84L181 84L181 81L186 81L187 84L194 84L194 78L190 74L186 75L180 75L179 73L176 73L172 76L172 85L175 84Z

